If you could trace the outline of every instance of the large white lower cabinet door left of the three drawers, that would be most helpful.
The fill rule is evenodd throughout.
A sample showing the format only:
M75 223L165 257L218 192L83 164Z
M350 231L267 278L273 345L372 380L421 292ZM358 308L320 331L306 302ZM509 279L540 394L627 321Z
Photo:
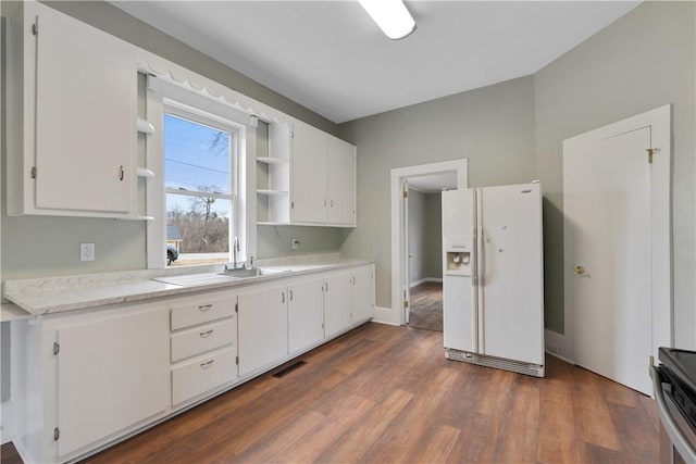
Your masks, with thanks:
M59 455L166 410L167 318L151 311L58 330Z

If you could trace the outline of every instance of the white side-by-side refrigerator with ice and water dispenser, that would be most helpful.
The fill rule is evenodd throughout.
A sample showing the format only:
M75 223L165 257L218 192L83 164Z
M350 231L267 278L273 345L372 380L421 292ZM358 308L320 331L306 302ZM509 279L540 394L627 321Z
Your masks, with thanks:
M544 377L540 190L443 192L447 359Z

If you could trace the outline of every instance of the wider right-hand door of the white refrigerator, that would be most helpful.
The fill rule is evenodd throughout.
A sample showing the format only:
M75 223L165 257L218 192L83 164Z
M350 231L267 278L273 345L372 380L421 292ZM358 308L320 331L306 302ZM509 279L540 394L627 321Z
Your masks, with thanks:
M544 364L539 184L477 190L478 350Z

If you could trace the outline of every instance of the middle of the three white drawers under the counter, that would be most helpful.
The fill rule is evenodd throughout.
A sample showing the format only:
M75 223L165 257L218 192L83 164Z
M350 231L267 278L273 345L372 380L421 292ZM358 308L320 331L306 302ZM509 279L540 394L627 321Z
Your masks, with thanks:
M225 344L232 344L233 350L237 349L236 317L172 335L172 362L175 363Z

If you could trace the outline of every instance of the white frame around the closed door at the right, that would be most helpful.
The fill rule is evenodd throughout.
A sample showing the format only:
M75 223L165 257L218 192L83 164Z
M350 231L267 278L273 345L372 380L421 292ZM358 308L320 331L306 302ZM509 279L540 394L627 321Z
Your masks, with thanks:
M672 190L671 190L671 125L672 105L666 104L655 110L622 120L563 140L563 156L582 146L614 137L643 127L650 127L650 146L659 151L652 158L650 170L650 227L652 260L651 275L651 353L658 356L659 347L671 347L672 329ZM648 147L646 147L647 149ZM646 153L647 156L647 153ZM571 360L575 359L575 333L573 327L572 301L568 291L568 277L574 274L570 261L570 246L563 239L563 286L564 286L564 335L566 349ZM647 368L647 366L646 366Z

